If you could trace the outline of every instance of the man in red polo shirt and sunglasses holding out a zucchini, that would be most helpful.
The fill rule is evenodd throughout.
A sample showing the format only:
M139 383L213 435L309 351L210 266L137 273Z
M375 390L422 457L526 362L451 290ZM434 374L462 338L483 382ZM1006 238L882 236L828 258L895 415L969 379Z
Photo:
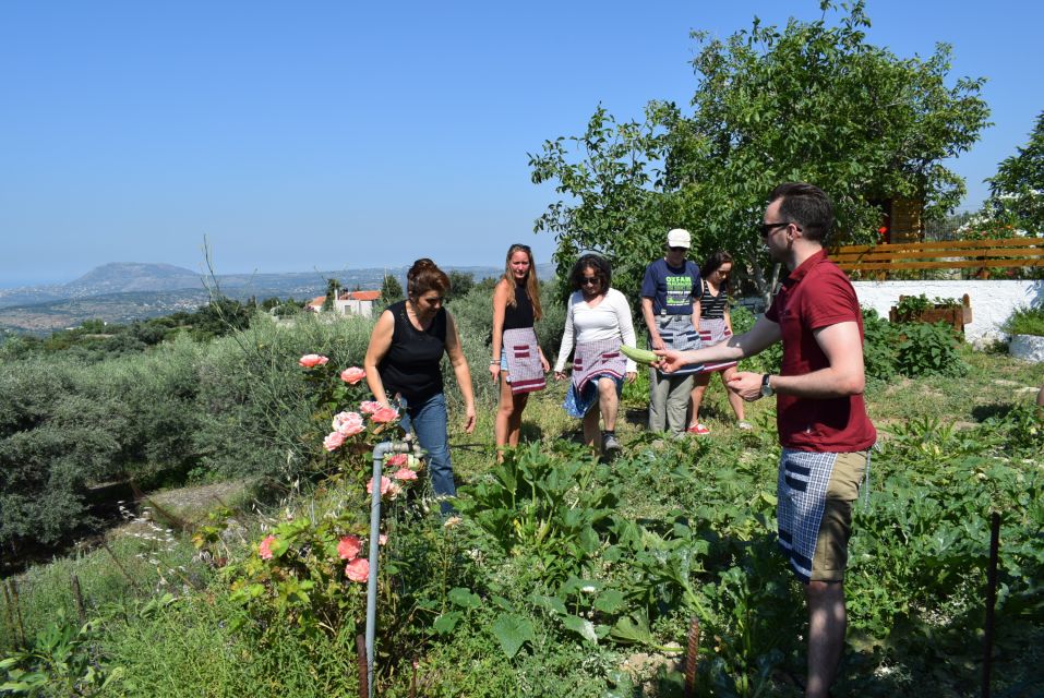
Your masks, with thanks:
M777 396L783 447L779 546L808 601L808 698L828 695L844 645L852 502L877 440L863 402L863 315L848 277L823 249L832 226L830 200L818 186L777 186L761 239L790 275L771 308L749 332L727 342L657 351L658 365L669 373L688 363L743 359L783 342L779 375L741 372L729 387L745 400Z

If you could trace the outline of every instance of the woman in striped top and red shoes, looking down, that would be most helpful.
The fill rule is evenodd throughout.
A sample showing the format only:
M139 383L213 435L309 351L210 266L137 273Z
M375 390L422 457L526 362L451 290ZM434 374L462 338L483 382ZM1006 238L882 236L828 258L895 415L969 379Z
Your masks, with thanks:
M729 277L732 275L732 255L724 250L711 254L699 269L704 279L704 294L700 299L699 338L704 347L713 347L732 336L732 316L729 314ZM735 361L718 361L705 364L694 376L693 392L689 396L688 432L706 436L710 433L707 425L699 421L699 405L704 393L710 385L710 376L721 375L725 395L732 411L736 413L736 426L752 429L743 417L743 398L729 389L729 378L736 372Z

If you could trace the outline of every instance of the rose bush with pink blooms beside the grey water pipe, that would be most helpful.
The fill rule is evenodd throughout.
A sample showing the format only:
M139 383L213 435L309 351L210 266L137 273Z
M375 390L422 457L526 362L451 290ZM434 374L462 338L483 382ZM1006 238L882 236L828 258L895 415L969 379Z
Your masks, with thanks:
M322 440L314 436L316 450L324 459L335 459L340 470L321 489L328 509L321 514L314 508L297 514L287 509L281 520L267 527L250 556L226 567L223 574L230 583L232 600L243 604L262 627L278 618L311 633L336 634L348 625L355 633L355 618L361 615L365 599L363 585L370 576L367 551L373 544L367 540L367 515L374 483L370 478L363 485L370 469L361 454L371 449L374 436L397 423L398 412L358 400L365 375L362 369L337 372L321 354L307 354L299 363L315 386L315 419L332 430ZM355 405L355 409L345 409ZM352 461L355 468L349 467ZM411 455L387 454L385 468L389 474L377 485L382 498L394 501L418 480L421 467ZM385 542L386 535L382 534L377 544Z

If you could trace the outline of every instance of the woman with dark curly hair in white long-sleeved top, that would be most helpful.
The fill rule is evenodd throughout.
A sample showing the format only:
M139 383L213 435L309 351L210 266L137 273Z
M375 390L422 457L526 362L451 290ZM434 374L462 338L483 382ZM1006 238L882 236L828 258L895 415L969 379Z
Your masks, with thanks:
M635 362L620 351L622 344L635 346L631 306L624 294L610 286L612 268L598 254L577 260L569 280L575 290L565 311L554 377L565 380L565 362L573 351L573 382L563 407L584 420L584 442L592 447L601 417L599 445L602 454L611 456L620 450L615 429L623 381L634 382L637 376Z

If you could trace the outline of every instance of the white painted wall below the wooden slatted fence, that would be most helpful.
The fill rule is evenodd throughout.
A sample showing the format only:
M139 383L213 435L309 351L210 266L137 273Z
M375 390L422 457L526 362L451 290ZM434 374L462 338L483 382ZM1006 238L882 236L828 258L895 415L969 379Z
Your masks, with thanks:
M1044 303L1044 280L1036 281L854 281L860 305L873 308L888 320L888 310L900 296L961 298L968 293L972 322L964 325L969 341L999 339L1000 325L1016 308Z

